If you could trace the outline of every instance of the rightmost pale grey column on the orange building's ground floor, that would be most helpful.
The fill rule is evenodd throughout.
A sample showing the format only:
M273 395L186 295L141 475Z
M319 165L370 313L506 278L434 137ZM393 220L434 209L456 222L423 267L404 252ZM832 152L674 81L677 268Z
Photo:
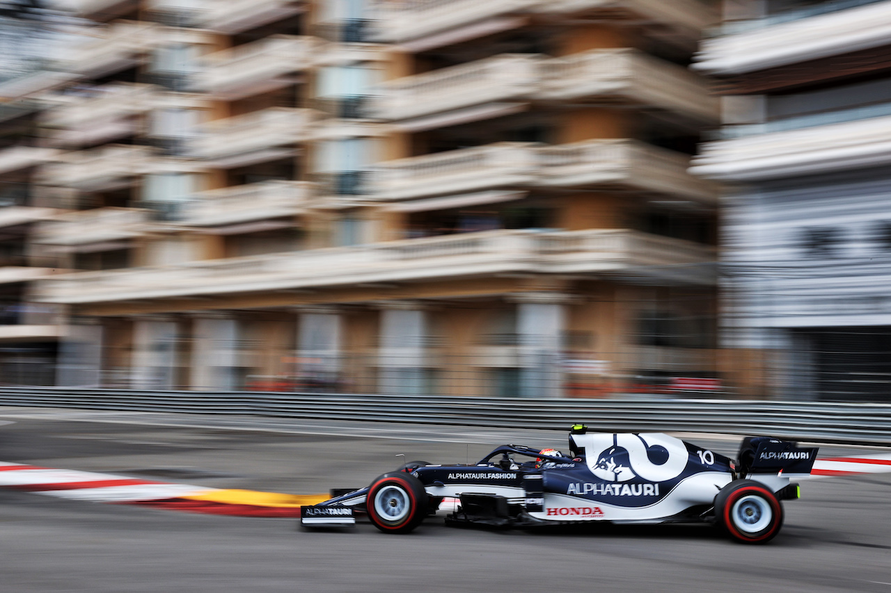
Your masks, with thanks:
M519 396L560 397L568 295L527 292L514 295L512 300L517 303Z

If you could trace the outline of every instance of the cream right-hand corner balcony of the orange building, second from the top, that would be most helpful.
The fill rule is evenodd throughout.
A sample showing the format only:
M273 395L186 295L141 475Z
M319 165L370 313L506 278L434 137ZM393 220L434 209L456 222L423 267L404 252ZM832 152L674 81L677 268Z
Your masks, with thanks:
M674 111L715 124L717 97L680 66L630 48L595 49L547 61L538 96L552 101L619 102Z

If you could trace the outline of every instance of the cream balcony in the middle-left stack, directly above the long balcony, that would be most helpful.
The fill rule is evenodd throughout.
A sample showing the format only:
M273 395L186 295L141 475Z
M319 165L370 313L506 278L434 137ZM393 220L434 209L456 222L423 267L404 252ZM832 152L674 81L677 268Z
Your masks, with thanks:
M202 191L185 205L182 223L219 226L301 215L312 190L312 183L268 181Z

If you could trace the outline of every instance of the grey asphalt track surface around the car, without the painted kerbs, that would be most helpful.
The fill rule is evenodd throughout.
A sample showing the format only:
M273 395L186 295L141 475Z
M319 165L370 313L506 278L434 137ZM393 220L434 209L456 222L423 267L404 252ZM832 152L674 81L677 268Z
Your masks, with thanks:
M0 420L15 422L0 426L4 461L307 494L369 483L396 467L399 453L474 461L497 443L565 442L561 434L499 430L493 436L447 426L220 422L64 410L6 408ZM731 455L739 443L735 437L683 436ZM887 450L834 445L822 447L821 455L878 452ZM434 520L407 536L381 534L369 524L302 532L292 519L171 513L3 490L0 574L3 590L16 593L891 593L891 474L824 478L802 490L803 500L786 504L781 535L762 547L734 544L700 526L485 532Z

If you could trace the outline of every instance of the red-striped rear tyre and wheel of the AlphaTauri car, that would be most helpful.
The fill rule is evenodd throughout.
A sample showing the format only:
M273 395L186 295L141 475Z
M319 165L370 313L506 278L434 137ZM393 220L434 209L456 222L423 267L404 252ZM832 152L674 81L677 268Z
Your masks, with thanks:
M780 500L764 484L735 480L715 497L718 524L743 543L766 543L780 532L783 520Z

